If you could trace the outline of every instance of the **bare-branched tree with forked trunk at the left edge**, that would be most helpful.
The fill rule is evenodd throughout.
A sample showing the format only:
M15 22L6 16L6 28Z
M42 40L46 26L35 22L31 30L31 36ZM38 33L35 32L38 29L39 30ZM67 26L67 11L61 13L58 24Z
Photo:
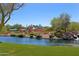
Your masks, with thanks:
M0 3L0 31L10 20L13 11L18 10L23 3Z

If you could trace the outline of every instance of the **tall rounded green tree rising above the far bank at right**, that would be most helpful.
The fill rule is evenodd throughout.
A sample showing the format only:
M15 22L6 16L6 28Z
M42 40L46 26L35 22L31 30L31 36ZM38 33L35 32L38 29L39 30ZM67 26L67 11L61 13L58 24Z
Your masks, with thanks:
M66 13L62 13L59 17L55 17L51 20L52 28L55 35L61 37L63 33L67 31L70 24L70 16Z

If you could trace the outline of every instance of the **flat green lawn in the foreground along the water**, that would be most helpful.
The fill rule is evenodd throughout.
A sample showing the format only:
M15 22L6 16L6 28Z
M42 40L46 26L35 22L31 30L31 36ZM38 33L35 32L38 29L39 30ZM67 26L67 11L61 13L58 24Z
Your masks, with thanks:
M79 47L34 46L0 43L0 55L7 56L79 56Z

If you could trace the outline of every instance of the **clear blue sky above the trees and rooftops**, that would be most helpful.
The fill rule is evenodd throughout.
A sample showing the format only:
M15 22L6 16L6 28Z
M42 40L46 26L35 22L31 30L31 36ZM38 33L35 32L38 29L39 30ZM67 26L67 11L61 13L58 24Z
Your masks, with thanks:
M13 12L7 24L50 26L51 19L58 17L61 13L68 13L71 21L79 22L79 4L77 3L27 3Z

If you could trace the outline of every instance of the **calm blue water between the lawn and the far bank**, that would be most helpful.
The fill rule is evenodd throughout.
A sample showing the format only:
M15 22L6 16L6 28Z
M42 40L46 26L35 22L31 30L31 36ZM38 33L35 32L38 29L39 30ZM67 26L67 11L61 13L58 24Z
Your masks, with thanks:
M31 39L31 38L18 38L18 37L0 37L0 42L10 42L16 44L33 44L33 45L43 45L43 46L63 46L64 44L75 43L74 41L63 41L63 40L53 40L48 39ZM76 42L78 44L78 41Z

